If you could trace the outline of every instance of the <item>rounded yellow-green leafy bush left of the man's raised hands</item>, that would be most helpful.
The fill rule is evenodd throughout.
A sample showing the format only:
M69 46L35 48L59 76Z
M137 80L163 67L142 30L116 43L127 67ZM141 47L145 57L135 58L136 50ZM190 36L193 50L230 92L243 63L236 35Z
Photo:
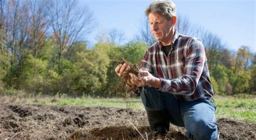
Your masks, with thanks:
M80 53L79 57L80 61L75 64L79 69L77 88L81 93L100 94L99 89L105 85L107 79L109 57L97 48Z

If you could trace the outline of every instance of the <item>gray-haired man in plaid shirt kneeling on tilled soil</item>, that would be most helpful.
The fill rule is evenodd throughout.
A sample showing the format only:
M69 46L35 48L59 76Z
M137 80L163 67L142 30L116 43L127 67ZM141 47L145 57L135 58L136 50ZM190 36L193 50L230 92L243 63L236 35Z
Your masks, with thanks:
M185 127L188 138L217 139L216 108L203 44L175 29L173 2L152 2L145 14L157 42L144 55L143 77L130 73L127 82L140 87L151 129L167 134L171 122ZM120 64L115 71L122 76L128 69Z

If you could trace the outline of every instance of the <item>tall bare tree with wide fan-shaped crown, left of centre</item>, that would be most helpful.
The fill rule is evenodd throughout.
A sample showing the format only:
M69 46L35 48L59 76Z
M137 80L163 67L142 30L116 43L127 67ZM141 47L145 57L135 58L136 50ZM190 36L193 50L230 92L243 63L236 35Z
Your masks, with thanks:
M53 31L52 40L58 46L58 60L80 38L93 28L93 16L87 8L79 8L76 0L49 0L48 19ZM66 53L68 54L68 53Z

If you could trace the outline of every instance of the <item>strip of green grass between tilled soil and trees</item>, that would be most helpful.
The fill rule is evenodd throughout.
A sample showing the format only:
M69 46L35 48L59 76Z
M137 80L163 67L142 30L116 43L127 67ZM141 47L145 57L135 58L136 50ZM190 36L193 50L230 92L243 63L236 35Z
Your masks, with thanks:
M140 98L93 98L93 97L77 97L70 98L66 96L54 97L28 97L12 99L8 97L6 102L29 103L29 104L45 104L57 106L102 106L116 108L136 108L144 109ZM1 99L1 97L0 97ZM231 96L214 96L214 104L217 106L217 118L232 118L234 120L242 120L247 122L256 122L256 101L255 96L248 97L231 97Z

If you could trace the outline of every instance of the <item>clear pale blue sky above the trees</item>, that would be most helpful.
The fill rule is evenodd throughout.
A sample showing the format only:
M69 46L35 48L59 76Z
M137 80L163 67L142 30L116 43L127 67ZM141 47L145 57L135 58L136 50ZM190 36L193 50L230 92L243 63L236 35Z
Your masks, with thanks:
M144 11L152 0L79 0L96 19L96 27L87 37L89 46L96 43L99 33L117 29L127 41L139 34ZM203 26L221 38L230 50L246 45L256 52L255 8L253 0L179 0L173 1L177 13L188 17L190 23ZM200 38L199 38L200 39Z

